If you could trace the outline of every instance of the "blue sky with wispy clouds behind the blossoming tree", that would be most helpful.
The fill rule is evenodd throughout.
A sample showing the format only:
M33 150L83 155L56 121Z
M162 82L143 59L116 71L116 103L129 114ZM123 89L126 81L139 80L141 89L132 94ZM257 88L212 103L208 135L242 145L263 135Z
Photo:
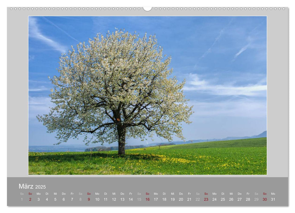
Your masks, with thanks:
M187 140L251 136L266 130L266 16L31 16L29 145L57 142L36 115L48 113L52 106L53 86L47 76L58 75L61 54L115 28L136 31L139 37L156 34L163 53L172 57L173 75L187 80L184 93L195 112L192 124L183 125ZM130 138L127 143L146 142Z

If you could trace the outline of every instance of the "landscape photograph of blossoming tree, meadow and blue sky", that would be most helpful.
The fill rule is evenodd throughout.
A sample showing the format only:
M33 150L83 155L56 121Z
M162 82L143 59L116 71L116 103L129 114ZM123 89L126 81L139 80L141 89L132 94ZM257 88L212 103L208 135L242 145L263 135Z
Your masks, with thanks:
M28 70L29 175L267 175L267 16L29 16Z

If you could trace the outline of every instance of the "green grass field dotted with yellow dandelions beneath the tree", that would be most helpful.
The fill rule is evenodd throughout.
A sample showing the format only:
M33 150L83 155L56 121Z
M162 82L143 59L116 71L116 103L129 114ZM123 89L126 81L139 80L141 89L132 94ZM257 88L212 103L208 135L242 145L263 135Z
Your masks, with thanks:
M29 152L30 175L266 175L266 138L105 152Z

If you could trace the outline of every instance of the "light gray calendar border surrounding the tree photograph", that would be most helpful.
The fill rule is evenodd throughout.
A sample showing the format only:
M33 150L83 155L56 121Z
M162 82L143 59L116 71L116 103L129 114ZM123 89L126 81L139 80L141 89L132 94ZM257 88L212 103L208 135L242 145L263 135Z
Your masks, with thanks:
M74 8L74 7L73 7ZM78 7L76 7L78 9ZM117 10L116 7L101 10L70 10L69 8L7 8L7 176L28 175L28 16L267 16L267 177L288 177L289 143L289 85L288 85L288 8L183 8L172 10L153 8L146 12L133 7ZM20 57L22 56L22 57ZM17 58L17 61L15 61ZM15 71L17 74L15 74ZM23 88L23 90L19 90ZM49 175L53 177L56 175ZM69 177L70 175L58 175ZM89 175L76 175L87 177ZM114 175L91 175L110 176ZM143 175L116 175L141 177ZM158 175L144 175L155 177ZM179 175L176 175L180 177ZM182 175L181 177L185 177ZM194 175L203 176L203 175ZM210 175L210 177L233 177L232 175ZM238 175L245 176L245 175ZM247 177L266 177L255 175ZM48 177L42 175L40 177ZM158 176L159 177L159 176ZM175 177L164 175L161 177ZM235 176L237 177L237 176Z

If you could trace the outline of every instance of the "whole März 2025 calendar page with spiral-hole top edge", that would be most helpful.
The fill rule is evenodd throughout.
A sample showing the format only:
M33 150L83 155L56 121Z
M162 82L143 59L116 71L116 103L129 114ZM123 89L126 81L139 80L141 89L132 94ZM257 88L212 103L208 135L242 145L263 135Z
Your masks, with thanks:
M288 206L288 8L7 20L8 206Z

